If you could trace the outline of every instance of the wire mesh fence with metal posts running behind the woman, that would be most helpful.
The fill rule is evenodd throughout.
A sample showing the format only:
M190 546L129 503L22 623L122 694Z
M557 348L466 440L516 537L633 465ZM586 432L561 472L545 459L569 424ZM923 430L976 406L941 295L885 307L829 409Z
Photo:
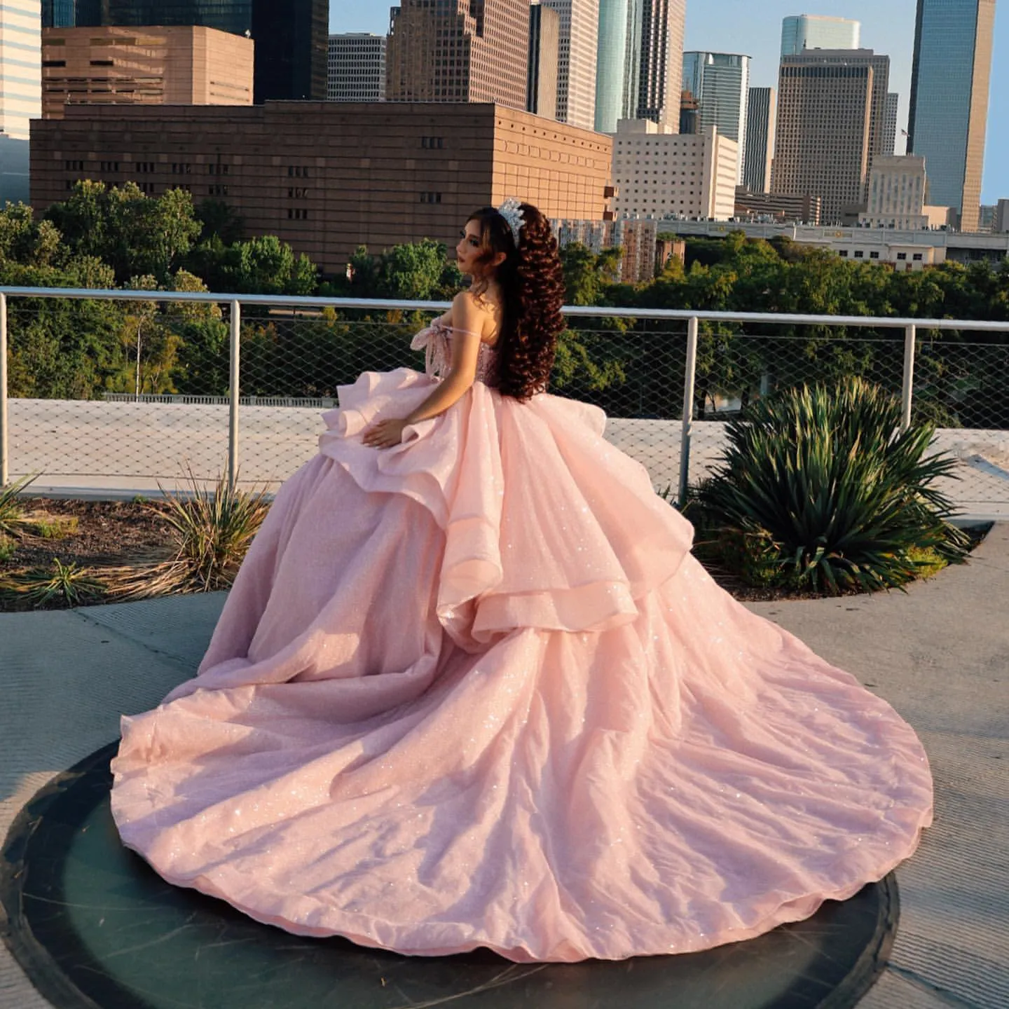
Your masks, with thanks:
M410 337L446 307L57 294L5 298L0 461L10 478L39 474L38 487L137 492L235 469L242 483L275 487L315 453L340 385L423 368ZM710 472L725 422L756 398L859 374L937 425L936 448L959 460L945 489L964 512L1009 514L1009 324L909 333L912 320L695 313L691 334L691 313L604 311L569 310L552 391L601 407L606 437L657 489L679 494Z

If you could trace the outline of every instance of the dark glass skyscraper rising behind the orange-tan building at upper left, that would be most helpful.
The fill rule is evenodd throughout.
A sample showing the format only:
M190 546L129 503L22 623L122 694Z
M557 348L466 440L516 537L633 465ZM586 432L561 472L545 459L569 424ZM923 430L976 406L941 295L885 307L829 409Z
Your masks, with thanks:
M198 25L255 42L254 100L326 97L329 0L42 0L43 27Z

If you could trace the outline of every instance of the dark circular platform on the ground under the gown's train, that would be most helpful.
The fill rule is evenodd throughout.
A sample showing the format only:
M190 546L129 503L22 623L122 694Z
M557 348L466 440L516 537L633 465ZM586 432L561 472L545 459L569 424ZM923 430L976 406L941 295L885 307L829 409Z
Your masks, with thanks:
M886 963L892 875L747 942L623 962L412 958L261 925L170 886L119 842L116 746L46 785L0 859L4 939L58 1009L847 1009Z

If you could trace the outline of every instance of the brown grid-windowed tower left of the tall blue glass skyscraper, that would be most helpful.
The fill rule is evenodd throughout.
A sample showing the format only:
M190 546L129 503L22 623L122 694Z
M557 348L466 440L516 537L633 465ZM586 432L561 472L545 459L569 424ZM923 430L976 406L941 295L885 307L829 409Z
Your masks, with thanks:
M823 220L853 221L882 155L890 58L872 49L782 57L772 193L823 200Z

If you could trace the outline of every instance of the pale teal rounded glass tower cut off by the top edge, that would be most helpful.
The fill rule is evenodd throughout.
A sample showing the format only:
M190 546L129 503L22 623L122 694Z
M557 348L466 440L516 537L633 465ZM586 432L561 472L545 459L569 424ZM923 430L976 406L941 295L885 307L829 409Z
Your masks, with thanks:
M599 0L595 68L595 129L614 133L633 119L641 74L642 0Z

